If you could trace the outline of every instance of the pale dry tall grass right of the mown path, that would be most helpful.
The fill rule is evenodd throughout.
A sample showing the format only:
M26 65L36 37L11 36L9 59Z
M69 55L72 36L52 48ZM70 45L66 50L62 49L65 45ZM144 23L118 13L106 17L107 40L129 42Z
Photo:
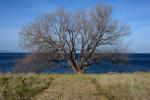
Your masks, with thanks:
M106 100L150 100L148 73L99 75L93 83Z

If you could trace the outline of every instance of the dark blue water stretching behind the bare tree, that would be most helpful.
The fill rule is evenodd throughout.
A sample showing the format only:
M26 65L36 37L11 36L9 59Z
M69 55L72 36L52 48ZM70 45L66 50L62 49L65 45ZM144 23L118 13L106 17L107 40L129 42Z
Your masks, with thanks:
M25 53L0 53L0 72L11 72L19 58ZM102 62L94 64L86 69L87 73L109 73L109 72L147 72L150 71L150 54L129 54L129 61L124 65ZM51 68L46 73L72 73L73 71L66 63L60 67Z

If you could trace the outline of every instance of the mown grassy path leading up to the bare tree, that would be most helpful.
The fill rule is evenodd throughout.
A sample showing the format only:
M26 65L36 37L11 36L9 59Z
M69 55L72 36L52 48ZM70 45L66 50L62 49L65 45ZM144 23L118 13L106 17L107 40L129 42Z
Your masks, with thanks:
M36 100L99 100L92 78L56 77L52 85Z

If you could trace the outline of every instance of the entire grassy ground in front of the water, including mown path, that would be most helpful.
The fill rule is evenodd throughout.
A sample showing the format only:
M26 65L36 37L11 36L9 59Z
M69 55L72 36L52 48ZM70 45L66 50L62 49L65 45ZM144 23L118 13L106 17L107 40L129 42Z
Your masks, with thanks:
M0 100L150 100L150 73L1 74Z

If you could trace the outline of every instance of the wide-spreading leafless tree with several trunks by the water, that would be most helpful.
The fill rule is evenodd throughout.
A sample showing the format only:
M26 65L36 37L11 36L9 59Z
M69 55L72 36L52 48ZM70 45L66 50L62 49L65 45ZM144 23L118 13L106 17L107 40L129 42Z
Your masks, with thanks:
M107 53L105 48L113 50L129 34L129 27L120 25L111 13L108 6L74 12L57 9L23 28L23 46L46 53L51 56L49 61L66 61L75 72L83 73L86 67L108 57L110 50Z

